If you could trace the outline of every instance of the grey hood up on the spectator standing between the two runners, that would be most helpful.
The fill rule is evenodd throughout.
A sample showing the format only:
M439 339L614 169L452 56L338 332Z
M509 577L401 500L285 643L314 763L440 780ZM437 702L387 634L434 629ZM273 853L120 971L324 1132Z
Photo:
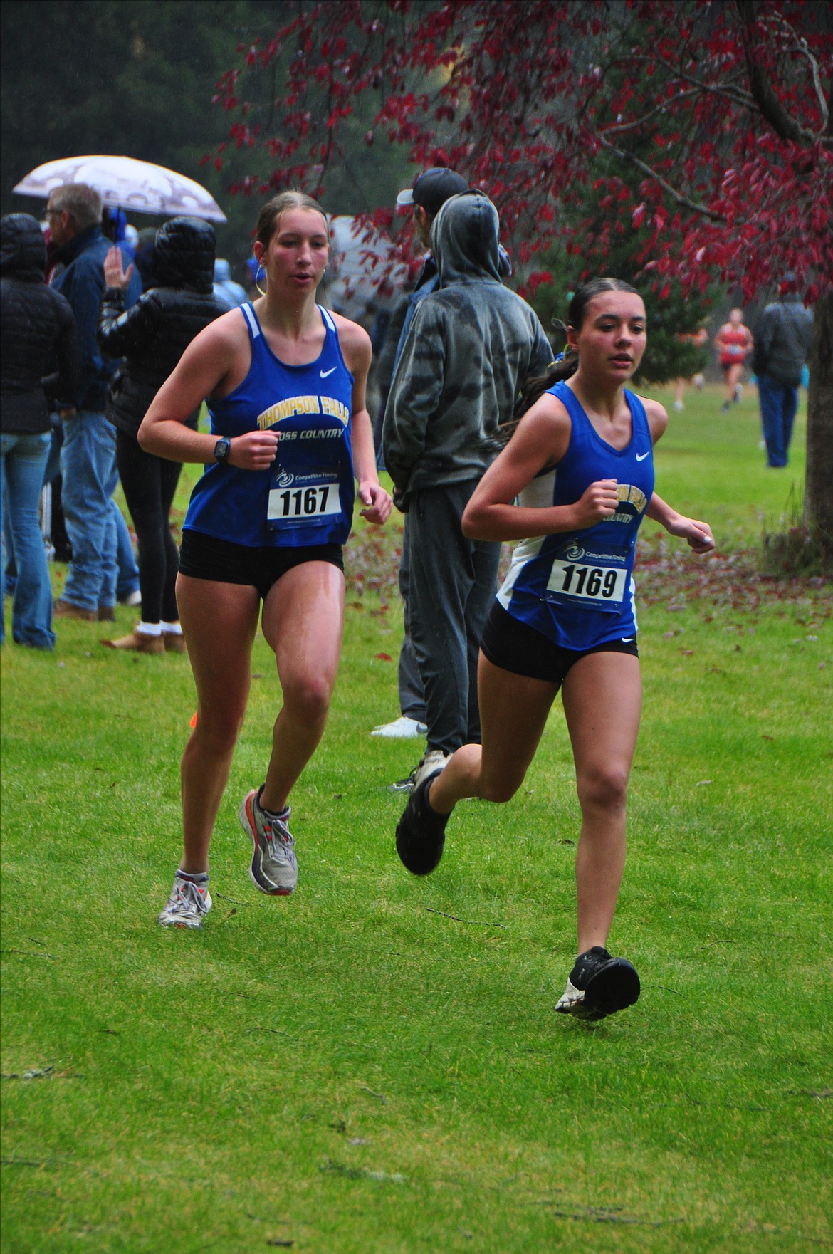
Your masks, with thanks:
M498 232L501 219L485 192L460 192L445 201L432 223L432 253L439 286L458 278L501 281Z

